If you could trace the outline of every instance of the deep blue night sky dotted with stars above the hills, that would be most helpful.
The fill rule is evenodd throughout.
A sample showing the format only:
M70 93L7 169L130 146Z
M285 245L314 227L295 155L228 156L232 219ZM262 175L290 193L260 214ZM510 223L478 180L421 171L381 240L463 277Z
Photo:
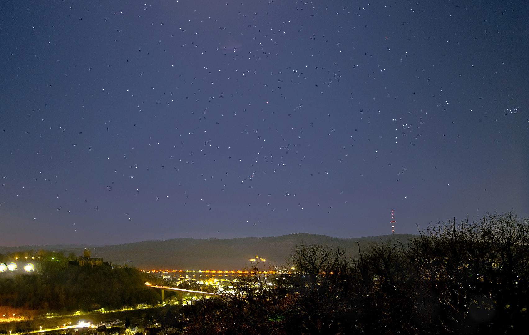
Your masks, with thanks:
M3 1L0 245L529 213L526 1Z

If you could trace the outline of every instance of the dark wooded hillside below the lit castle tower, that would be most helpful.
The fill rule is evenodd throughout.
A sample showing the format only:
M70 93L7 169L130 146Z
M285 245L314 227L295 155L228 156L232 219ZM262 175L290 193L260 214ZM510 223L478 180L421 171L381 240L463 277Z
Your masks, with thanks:
M0 275L0 309L39 315L119 309L135 304L156 304L160 299L156 291L145 286L145 281L156 282L156 278L134 268L66 267L67 258L62 256L55 262L56 257L47 259L47 256L50 255L41 254L45 260L39 263L39 271Z

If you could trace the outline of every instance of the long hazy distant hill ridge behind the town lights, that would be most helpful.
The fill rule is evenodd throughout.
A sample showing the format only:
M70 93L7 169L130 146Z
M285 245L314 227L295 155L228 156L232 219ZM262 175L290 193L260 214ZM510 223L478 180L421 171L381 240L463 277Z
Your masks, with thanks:
M359 238L336 238L325 235L290 234L273 237L246 237L232 239L194 239L175 238L165 241L142 241L111 246L95 245L52 245L0 247L0 253L20 250L56 250L65 255L75 253L82 255L85 248L92 250L92 257L103 257L105 262L135 266L144 270L182 269L182 270L239 270L249 264L249 259L256 255L269 262L281 264L290 254L291 249L305 241L307 244L323 243L346 250L355 257L358 244L361 247L369 243L398 239L402 243L414 237L409 234L369 236Z

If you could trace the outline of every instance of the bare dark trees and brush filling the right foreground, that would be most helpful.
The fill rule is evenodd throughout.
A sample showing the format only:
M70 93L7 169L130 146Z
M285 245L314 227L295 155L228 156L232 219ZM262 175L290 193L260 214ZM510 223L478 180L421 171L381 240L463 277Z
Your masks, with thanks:
M162 318L165 333L526 333L529 222L513 213L431 225L410 243L381 241L358 257L300 244L282 273L262 264L233 296Z

